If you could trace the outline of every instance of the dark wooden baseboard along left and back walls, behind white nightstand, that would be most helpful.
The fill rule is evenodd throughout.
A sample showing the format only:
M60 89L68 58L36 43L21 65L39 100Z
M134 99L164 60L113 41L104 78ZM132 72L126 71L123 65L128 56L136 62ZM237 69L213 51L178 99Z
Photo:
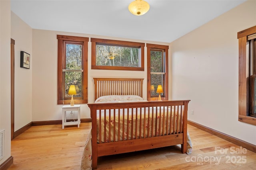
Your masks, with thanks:
M72 121L73 119L67 120L67 121ZM81 119L81 123L88 123L92 122L91 118L88 119ZM20 128L19 130L14 132L14 138L17 137L18 135L22 134L24 131L29 129L31 126L39 126L39 125L58 125L62 124L62 120L51 120L51 121L32 121L25 125L24 127ZM2 169L1 169L2 170Z

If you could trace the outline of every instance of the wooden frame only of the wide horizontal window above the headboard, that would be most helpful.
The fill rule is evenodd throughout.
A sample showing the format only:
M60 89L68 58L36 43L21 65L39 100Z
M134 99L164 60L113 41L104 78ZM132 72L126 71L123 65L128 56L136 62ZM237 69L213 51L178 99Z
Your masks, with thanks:
M133 70L144 71L144 47L145 43L136 43L130 41L118 41L110 39L91 38L92 42L92 69L100 70ZM96 65L96 44L102 45L116 45L121 47L135 47L140 49L140 67L126 67L126 66L97 66Z

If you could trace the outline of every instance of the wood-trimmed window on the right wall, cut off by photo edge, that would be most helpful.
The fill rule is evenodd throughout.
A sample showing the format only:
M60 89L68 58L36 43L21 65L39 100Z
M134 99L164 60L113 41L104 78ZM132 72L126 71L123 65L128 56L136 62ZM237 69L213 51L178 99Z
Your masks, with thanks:
M256 125L256 26L238 32L237 37L238 121Z

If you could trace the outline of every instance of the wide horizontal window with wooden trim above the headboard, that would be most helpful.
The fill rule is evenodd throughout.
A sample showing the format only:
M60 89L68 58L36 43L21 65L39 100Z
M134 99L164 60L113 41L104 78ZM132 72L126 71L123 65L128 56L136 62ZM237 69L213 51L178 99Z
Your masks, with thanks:
M144 71L145 43L91 38L92 69Z

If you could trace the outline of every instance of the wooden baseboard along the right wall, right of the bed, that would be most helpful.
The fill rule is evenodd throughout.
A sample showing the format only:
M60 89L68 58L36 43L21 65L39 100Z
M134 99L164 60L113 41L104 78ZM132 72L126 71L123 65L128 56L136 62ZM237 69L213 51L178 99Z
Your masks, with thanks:
M221 133L221 132L219 132L219 131L216 131L216 130L211 129L211 128L209 128L209 127L206 127L206 126L204 126L204 125L200 125L200 124L195 123L195 122L190 121L190 120L188 120L188 124L189 124L189 125L192 125L192 126L194 126L194 127L197 127L198 129L201 129L201 130L203 130L203 131L206 131L206 132L208 132L208 133L210 133L210 134L212 134L212 135L215 135L215 136L217 136L217 137L220 137L220 138L222 138L222 139L225 139L226 141L229 141L229 142L231 142L231 143L234 143L234 144L236 144L236 145L238 145L238 146L241 146L241 147L244 147L244 148L246 148L246 149L248 149L248 150L251 150L252 152L256 152L256 145L253 145L253 144L248 143L248 142L246 142L246 141L242 141L242 140L240 140L240 139L237 139L237 138L232 137L232 136L230 136L230 135L227 135L227 134L225 134L225 133Z

